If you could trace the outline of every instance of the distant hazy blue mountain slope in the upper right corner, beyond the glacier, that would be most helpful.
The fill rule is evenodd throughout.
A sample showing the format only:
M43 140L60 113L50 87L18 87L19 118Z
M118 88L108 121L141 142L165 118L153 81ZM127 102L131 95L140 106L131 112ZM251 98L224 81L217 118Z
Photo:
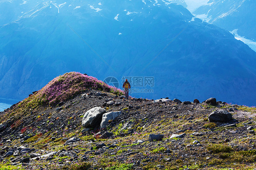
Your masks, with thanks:
M238 35L256 40L255 0L209 0L193 12L210 24L236 30Z

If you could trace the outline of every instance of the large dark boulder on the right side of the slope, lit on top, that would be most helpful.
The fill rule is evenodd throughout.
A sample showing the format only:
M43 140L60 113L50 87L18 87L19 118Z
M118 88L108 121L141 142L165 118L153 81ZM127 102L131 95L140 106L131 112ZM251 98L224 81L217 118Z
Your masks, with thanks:
M210 122L227 122L232 119L232 115L226 110L215 110L208 119Z

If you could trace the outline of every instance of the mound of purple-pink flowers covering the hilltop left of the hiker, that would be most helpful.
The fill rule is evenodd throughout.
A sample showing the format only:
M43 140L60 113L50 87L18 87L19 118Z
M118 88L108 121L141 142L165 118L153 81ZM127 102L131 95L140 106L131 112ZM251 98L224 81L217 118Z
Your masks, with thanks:
M88 89L102 90L116 95L123 95L123 91L105 84L95 77L78 72L69 72L51 80L35 95L28 98L31 104L56 105L61 101L72 98Z

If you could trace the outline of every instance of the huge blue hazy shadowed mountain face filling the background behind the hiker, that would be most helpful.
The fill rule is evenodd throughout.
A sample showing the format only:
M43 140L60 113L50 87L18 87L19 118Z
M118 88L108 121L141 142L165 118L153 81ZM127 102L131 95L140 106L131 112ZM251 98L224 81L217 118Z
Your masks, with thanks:
M136 97L254 105L256 53L168 2L1 2L0 96L23 99L79 71L120 83L123 76L154 77L154 93Z

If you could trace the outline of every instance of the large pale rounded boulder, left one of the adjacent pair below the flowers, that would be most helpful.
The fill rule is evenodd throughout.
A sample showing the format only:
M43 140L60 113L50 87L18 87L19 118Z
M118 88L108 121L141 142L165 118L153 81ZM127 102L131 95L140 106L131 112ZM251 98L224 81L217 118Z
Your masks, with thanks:
M82 126L83 127L97 127L100 125L102 120L102 115L106 112L105 109L101 107L94 107L88 110L82 119Z

